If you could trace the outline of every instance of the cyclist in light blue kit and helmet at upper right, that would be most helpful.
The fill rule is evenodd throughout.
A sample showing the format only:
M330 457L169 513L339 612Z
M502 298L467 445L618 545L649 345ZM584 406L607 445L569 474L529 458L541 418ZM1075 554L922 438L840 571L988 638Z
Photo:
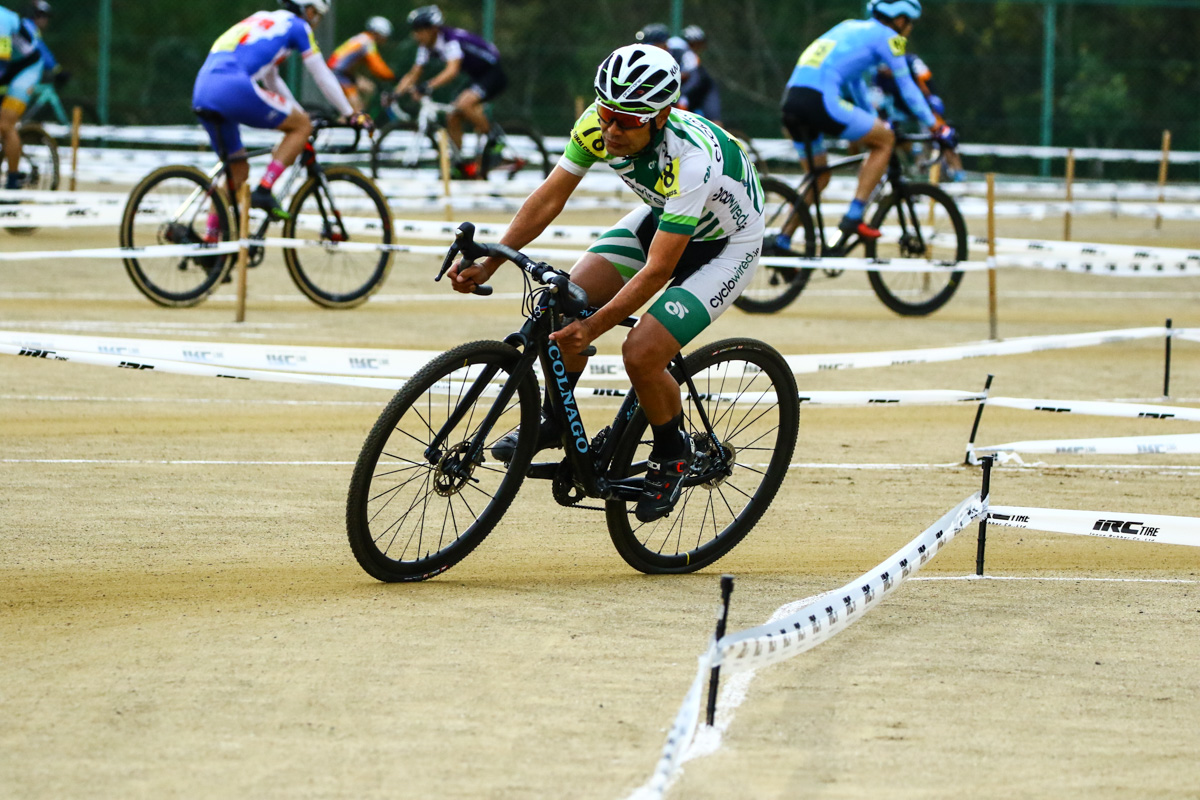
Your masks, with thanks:
M937 121L905 60L907 37L920 18L920 0L871 0L866 10L869 19L847 19L834 25L800 54L784 94L782 116L802 160L806 158L805 142L810 144L816 168L828 163L826 136L841 137L869 150L858 174L854 199L838 227L847 235L877 239L880 231L863 222L863 207L887 172L895 134L870 107L864 74L880 65L887 66L905 103L923 125L950 148L954 131ZM828 181L829 173L821 175L822 188Z

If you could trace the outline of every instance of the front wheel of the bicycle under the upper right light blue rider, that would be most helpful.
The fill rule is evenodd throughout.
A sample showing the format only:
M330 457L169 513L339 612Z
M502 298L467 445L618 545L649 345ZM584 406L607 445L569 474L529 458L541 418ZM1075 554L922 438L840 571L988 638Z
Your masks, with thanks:
M871 225L883 230L880 240L864 242L868 258L925 258L956 263L967 260L967 225L954 198L930 184L905 184L905 197L880 200ZM868 272L871 288L892 311L924 317L944 306L962 272Z

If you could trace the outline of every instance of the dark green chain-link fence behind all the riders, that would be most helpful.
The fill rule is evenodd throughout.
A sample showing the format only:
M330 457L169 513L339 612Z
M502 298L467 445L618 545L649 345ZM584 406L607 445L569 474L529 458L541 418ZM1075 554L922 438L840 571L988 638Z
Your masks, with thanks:
M949 118L966 140L1009 144L1153 149L1171 130L1177 149L1200 149L1200 2L1058 0L1051 19L1031 1L925 0L911 40L934 71ZM98 0L59 2L47 40L74 80L65 100L92 114L103 97L101 8L112 7L107 118L118 124L191 121L196 72L211 42L270 0ZM326 49L383 14L397 34L383 55L397 71L415 47L403 18L409 5L334 0L322 23ZM449 24L479 30L488 0L444 0ZM649 22L683 24L708 34L704 65L721 86L725 122L755 137L779 136L778 104L804 46L839 20L862 16L859 0L496 0L494 38L509 73L497 106L547 133L570 126L576 97L590 94L595 65L632 41ZM1164 5L1170 4L1170 5ZM1162 5L1162 7L1159 7ZM1052 34L1046 72L1045 34ZM293 74L296 72L292 71ZM1043 84L1054 88L1044 102Z

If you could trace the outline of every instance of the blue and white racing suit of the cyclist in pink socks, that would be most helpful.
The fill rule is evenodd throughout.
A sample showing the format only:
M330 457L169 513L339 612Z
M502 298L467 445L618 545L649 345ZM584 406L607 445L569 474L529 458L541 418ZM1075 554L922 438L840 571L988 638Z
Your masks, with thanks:
M280 76L280 65L293 53L304 59L322 95L337 113L353 114L308 23L290 11L259 11L217 38L196 78L193 107L216 112L224 120L216 124L202 118L217 152L241 150L239 124L277 128L293 110L302 110Z

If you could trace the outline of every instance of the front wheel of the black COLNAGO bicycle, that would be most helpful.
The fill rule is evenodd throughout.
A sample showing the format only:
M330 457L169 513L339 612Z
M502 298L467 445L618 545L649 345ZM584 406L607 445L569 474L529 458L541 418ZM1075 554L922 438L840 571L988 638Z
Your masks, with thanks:
M346 501L350 549L368 575L431 578L475 549L504 516L533 458L541 397L532 373L484 432L482 452L470 458L468 451L518 362L502 342L463 344L422 367L379 415ZM486 389L475 395L473 386ZM517 426L512 461L497 461L491 446Z

